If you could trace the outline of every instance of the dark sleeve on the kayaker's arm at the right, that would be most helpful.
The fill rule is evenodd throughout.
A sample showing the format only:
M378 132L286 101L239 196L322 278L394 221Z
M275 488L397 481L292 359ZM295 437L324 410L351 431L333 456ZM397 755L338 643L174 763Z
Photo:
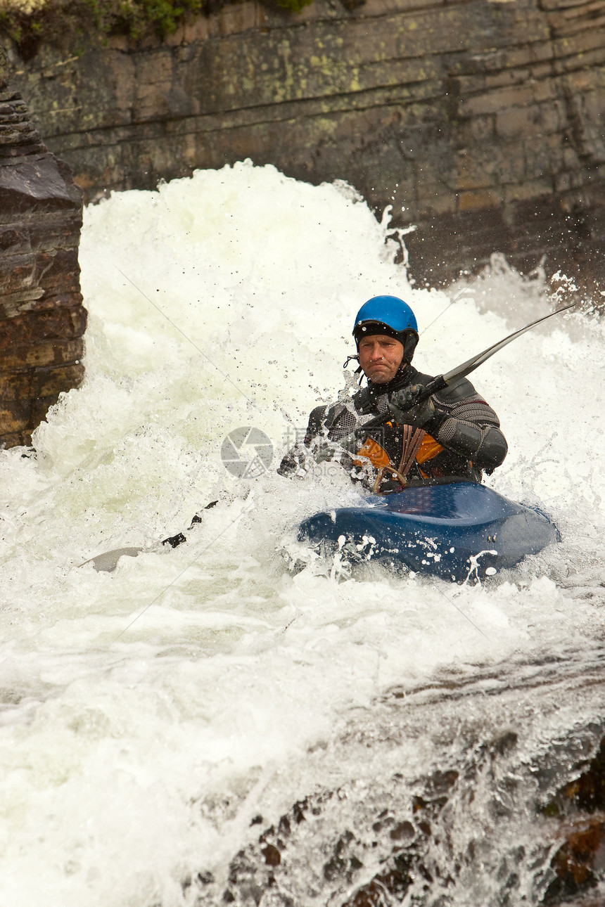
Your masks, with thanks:
M426 430L446 450L464 456L486 473L503 463L508 451L500 421L483 396L463 378L434 395L435 413Z

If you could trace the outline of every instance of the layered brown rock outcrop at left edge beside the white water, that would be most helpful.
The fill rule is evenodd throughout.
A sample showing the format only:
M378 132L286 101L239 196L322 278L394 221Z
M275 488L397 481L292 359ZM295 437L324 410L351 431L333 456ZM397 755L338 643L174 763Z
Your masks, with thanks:
M2 52L0 51L0 54ZM83 378L81 192L46 150L0 55L0 444L30 444Z

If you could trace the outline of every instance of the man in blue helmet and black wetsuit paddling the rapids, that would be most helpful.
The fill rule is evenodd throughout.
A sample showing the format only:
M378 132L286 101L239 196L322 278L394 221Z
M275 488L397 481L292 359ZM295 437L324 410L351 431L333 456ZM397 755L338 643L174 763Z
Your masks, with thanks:
M483 472L503 463L507 444L498 416L466 378L405 408L434 376L411 365L418 326L403 299L369 299L357 312L353 336L357 355L351 358L367 386L317 406L303 442L284 457L279 473L304 475L318 463L337 462L354 481L387 493L454 477L481 482ZM364 422L387 412L386 424L364 432Z

